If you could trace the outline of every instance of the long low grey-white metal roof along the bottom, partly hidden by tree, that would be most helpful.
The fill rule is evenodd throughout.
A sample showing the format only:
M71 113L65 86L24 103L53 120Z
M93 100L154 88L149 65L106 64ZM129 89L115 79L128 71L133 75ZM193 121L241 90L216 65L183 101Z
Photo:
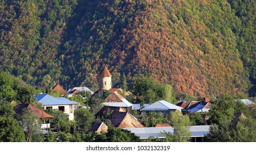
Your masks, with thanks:
M204 137L209 133L209 127L206 126L191 126L190 131L192 132L191 137ZM147 139L149 137L154 138L166 138L161 133L170 132L173 134L174 127L144 127L144 128L123 128L124 130L128 130L134 133L136 136L140 137L140 139Z

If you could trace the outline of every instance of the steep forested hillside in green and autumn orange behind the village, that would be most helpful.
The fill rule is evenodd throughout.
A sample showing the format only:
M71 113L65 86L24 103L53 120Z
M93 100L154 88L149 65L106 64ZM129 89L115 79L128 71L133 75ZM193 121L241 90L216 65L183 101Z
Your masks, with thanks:
M0 70L32 86L144 75L177 93L255 96L255 1L0 0Z

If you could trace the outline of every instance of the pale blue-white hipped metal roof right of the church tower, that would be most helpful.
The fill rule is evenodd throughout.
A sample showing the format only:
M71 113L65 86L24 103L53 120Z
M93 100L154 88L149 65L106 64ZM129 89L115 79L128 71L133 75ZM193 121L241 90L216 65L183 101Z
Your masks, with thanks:
M172 103L169 103L167 101L157 101L143 109L141 109L140 111L166 111L169 109L183 109L177 105L174 105Z

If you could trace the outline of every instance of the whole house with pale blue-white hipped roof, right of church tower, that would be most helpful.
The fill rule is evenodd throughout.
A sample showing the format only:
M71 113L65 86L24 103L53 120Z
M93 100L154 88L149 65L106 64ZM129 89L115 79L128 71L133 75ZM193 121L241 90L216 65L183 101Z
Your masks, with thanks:
M141 109L141 115L144 115L147 112L150 111L156 111L158 113L166 113L167 111L180 111L181 112L181 107L174 105L172 103L169 103L167 101L157 101L143 109Z

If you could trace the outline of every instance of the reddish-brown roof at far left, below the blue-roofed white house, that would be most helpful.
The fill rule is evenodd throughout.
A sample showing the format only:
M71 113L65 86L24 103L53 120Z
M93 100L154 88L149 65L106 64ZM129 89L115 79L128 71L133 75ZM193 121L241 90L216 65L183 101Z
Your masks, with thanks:
M38 116L40 119L53 117L52 115L49 115L49 114L45 113L43 110L41 110L39 108L36 108L35 106L33 106L31 104L18 104L18 105L16 105L16 107L14 108L15 113L16 113L15 116L22 113L22 110L24 108L31 108L33 113L36 116Z

